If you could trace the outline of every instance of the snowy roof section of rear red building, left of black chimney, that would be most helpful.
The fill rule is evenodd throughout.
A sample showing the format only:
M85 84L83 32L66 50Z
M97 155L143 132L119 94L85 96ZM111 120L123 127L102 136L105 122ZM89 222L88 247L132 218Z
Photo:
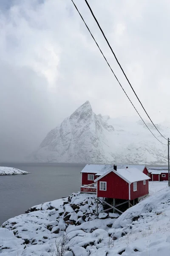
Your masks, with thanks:
M86 164L81 172L105 173L113 168L113 164ZM103 170L103 171L102 171Z

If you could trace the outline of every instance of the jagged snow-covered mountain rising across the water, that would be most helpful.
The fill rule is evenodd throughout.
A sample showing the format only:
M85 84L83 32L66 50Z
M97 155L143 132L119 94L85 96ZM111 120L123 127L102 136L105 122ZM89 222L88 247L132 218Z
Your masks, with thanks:
M150 124L148 124L150 125ZM153 127L150 128L161 138ZM167 135L168 127L158 125ZM167 163L166 146L159 143L141 120L111 119L96 115L85 102L51 130L31 155L39 162L68 163Z

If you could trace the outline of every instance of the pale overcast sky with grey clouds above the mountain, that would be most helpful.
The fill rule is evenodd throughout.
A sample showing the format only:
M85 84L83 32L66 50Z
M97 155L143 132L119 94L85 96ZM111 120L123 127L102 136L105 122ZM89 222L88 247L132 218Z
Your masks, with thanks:
M147 119L84 0L75 0L128 95ZM170 1L89 0L156 123L170 113ZM71 0L0 0L0 160L21 160L86 100L135 116Z

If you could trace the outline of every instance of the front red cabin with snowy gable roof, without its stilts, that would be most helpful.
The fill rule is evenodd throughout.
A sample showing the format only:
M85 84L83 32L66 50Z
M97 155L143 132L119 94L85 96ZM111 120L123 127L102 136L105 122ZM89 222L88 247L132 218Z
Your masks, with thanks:
M94 180L97 197L133 200L149 193L150 177L136 168L111 169Z

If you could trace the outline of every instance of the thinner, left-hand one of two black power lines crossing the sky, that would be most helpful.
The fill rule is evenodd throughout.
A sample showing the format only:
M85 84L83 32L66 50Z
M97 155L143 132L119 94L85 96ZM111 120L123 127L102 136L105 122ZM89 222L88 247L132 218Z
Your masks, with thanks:
M77 12L79 13L80 17L82 18L83 22L85 23L85 20L83 19L83 17L82 17L82 15L81 15L81 13L80 13L80 12L79 12L79 10L77 9L77 6L75 5L74 1L73 1L73 0L71 0L71 2L74 4L74 7L76 8ZM96 42L96 40L95 40L94 36L92 35L92 33L91 33L90 29L88 28L88 25L87 25L86 23L85 23L85 26L86 26L86 28L88 29L89 33L91 34L91 37L92 37L92 38L93 38L93 40L95 41L95 43L96 43L97 47L99 48L99 51L101 52L101 54L102 54L103 58L105 59L105 61L106 61L106 63L108 64L109 68L111 69L111 71L112 71L113 75L115 76L116 80L118 81L118 83L119 83L120 87L121 87L121 88L122 88L122 90L124 91L125 95L127 96L128 100L129 100L129 101L130 101L130 103L132 104L133 108L136 110L136 112L138 113L138 115L139 115L139 116L140 116L140 118L142 119L142 116L139 114L139 112L137 111L137 109L135 108L135 106L133 105L133 103L131 102L131 100L130 100L129 96L127 95L127 93L126 93L126 92L125 92L125 90L123 89L122 84L119 82L118 78L116 77L115 73L113 72L113 70L112 70L112 68L111 68L110 64L108 63L108 61L107 61L107 59L106 59L105 55L103 54L102 50L100 49L99 45L97 44L97 42ZM142 119L142 121L144 122L144 120L143 120L143 119ZM146 124L145 122L144 122L144 124L146 125L147 129L151 132L151 134L156 138L156 140L158 140L158 141L159 141L161 144L163 144L163 145L167 145L167 144L162 143L162 142L161 142L161 141L160 141L160 140L159 140L159 139L158 139L158 138L153 134L153 132L150 130L150 128L147 126L147 124Z

